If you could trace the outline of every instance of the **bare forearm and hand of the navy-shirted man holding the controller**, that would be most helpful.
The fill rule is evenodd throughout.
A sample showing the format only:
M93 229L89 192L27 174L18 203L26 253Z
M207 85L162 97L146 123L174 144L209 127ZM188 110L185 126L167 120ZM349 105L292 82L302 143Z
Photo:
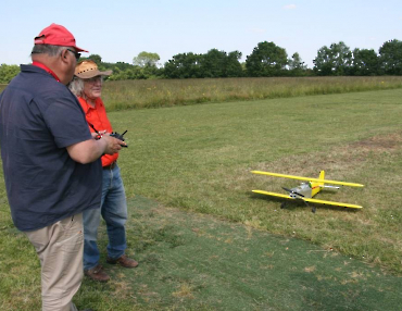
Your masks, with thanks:
M102 154L114 154L122 149L122 140L103 135L101 139L88 139L67 147L70 157L81 164L96 161Z

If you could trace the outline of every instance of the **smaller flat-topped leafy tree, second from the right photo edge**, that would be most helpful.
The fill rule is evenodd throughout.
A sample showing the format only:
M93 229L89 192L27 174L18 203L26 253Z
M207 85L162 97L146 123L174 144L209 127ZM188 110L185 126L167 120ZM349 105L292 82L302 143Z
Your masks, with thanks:
M378 55L372 49L354 49L350 74L355 76L368 76L378 74Z

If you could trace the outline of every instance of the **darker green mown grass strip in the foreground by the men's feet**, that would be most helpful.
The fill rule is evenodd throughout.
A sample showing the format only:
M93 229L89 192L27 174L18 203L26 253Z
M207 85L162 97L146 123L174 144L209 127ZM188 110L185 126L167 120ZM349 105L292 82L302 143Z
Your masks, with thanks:
M103 252L101 263L112 278L108 284L85 278L75 297L80 309L400 310L400 277L335 250L165 208L140 196L128 207L127 253L140 265L128 270L106 264ZM39 310L35 253L22 234L5 234L33 258L30 266L14 261L2 273L1 288L9 288L10 295L1 310ZM99 240L104 250L104 224Z

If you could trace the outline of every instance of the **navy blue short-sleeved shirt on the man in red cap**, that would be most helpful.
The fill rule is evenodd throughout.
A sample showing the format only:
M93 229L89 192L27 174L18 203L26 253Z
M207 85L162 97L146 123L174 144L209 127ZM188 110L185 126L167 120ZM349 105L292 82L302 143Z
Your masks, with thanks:
M68 88L42 69L21 65L0 95L1 158L18 229L39 229L100 207L100 159L79 164L66 149L88 139L84 111Z

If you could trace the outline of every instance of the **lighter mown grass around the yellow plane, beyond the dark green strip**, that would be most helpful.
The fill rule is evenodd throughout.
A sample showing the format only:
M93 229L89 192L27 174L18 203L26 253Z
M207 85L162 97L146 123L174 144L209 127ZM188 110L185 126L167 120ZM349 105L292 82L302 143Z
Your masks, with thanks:
M122 153L128 196L214 214L291 235L401 273L401 90L301 97L113 113L128 129ZM281 191L296 181L250 174L265 170L365 184L318 198L362 211L292 206L252 189ZM296 234L293 234L293 232ZM367 240L367 236L370 239Z

